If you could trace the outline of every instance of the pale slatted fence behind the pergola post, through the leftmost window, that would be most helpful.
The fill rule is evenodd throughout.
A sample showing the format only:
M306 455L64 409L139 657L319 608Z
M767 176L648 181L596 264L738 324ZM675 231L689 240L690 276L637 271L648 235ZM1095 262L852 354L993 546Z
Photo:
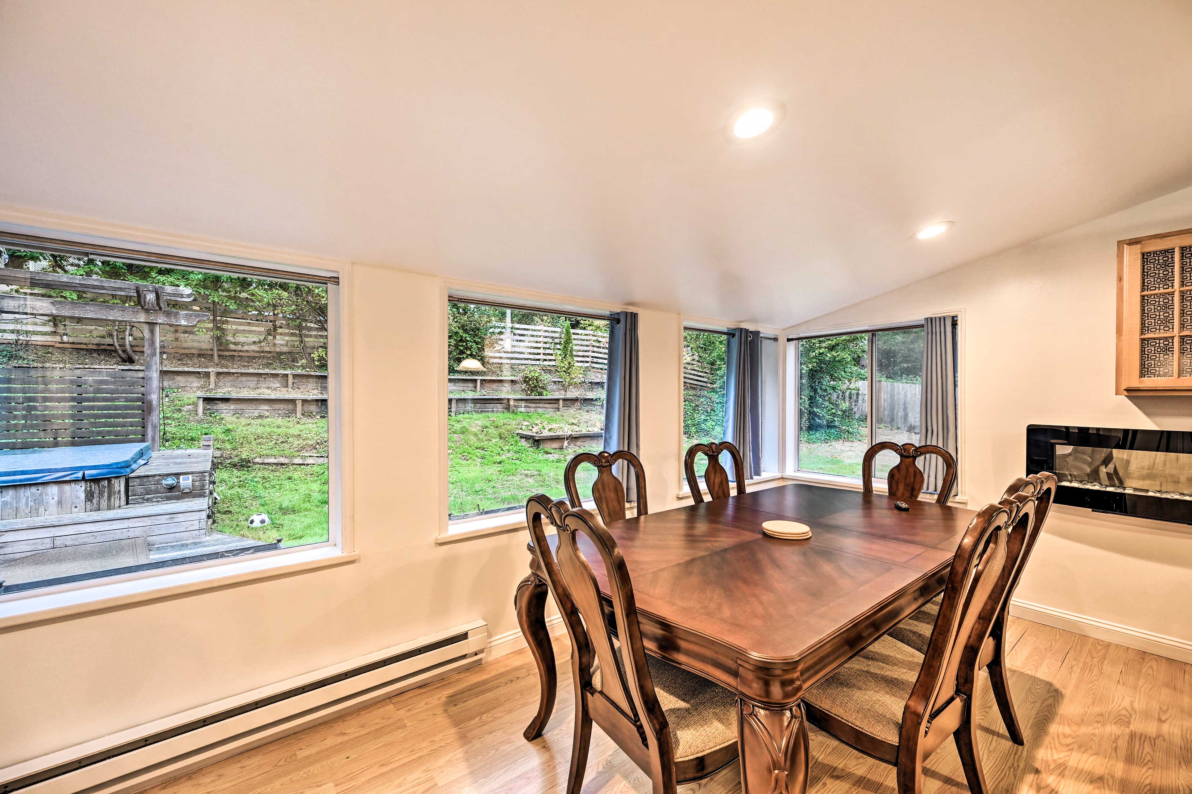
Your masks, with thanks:
M207 301L187 301L178 308L210 313L215 318L216 338L211 338L212 320L193 327L161 326L161 344L167 352L210 354L212 344L219 355L266 356L272 354L313 352L327 346L327 331L310 323L300 324L281 314L234 312ZM124 326L117 324L120 344ZM0 342L20 338L36 345L87 350L112 350L113 324L42 314L0 314ZM578 332L577 332L578 333ZM134 330L132 346L143 351L141 332ZM578 346L578 345L577 345Z

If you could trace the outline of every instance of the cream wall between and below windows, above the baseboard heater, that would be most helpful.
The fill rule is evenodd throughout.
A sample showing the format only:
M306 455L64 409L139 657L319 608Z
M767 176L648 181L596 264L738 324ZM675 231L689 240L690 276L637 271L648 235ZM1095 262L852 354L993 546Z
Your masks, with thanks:
M477 618L492 634L517 627L526 533L434 543L442 296L434 276L353 269L360 562L0 633L0 767ZM639 323L641 458L658 511L679 487L682 321L644 311Z

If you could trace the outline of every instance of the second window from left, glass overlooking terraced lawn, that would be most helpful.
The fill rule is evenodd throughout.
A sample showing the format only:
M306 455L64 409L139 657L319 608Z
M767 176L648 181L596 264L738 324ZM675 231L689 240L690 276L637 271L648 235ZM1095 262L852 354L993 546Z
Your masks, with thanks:
M603 448L610 320L452 299L447 305L448 520L565 498L572 455ZM590 498L592 467L579 469Z

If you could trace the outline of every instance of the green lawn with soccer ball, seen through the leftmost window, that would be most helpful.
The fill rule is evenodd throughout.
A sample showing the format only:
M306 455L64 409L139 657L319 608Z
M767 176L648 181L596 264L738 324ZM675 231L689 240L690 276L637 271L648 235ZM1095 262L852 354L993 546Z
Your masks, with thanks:
M167 389L162 400L162 448L195 449L211 436L216 451L215 530L281 545L328 538L327 465L262 465L254 457L327 455L327 419L291 417L195 417L194 395ZM248 525L253 513L272 524Z

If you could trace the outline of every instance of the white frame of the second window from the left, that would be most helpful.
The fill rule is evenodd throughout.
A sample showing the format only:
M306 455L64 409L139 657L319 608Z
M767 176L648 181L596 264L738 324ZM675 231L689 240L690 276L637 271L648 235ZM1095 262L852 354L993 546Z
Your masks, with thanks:
M449 461L447 456L447 418L448 411L445 407L448 400L448 377L451 371L447 368L447 321L448 305L459 302L474 302L498 307L508 307L522 311L538 311L567 317L591 317L594 319L609 319L610 315L622 311L635 311L632 307L617 306L614 304L598 304L596 301L578 302L576 299L561 295L547 295L530 290L508 289L493 292L491 286L473 281L457 279L443 279L440 300L440 324L439 324L439 514L440 520L435 533L435 545L472 540L493 534L505 534L519 532L526 529L524 506L515 506L501 513L490 515L474 515L452 520L451 517L451 484L449 484ZM607 395L606 383L606 395ZM584 507L595 508L595 502L584 500ZM632 507L632 505L631 505Z

